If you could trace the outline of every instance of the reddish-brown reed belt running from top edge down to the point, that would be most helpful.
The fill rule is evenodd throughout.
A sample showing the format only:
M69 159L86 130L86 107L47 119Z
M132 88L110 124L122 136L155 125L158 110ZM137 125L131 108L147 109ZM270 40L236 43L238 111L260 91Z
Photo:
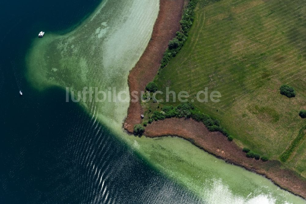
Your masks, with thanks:
M136 66L130 71L128 84L131 100L140 98L140 91L144 90L148 82L152 81L160 66L163 53L168 42L180 30L180 20L183 13L184 0L160 0L159 14L155 22L151 40ZM133 91L138 94L132 95ZM141 123L143 114L140 102L130 102L128 116L123 127L133 132L135 124Z

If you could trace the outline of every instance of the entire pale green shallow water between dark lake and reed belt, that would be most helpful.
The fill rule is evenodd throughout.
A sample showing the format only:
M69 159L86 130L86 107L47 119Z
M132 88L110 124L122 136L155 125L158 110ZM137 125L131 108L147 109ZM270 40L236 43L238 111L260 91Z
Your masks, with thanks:
M79 27L65 35L46 33L27 55L28 79L40 90L50 86L81 91L128 89L129 70L150 40L157 0L103 1ZM112 128L135 151L167 176L208 203L304 203L262 176L226 164L180 138L135 138L122 131L125 103L80 103Z

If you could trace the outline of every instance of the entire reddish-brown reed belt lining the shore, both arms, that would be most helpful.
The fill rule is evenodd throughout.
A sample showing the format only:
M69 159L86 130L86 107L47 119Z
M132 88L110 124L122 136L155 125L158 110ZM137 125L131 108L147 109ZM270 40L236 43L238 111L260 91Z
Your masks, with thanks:
M138 91L137 96L140 97L140 91L144 90L147 83L156 76L169 40L180 30L179 21L184 5L184 0L160 0L160 10L151 40L143 55L129 73L128 85L131 98L131 90ZM128 115L123 124L128 133L133 133L134 125L141 123L140 115L143 113L140 102L130 101ZM169 129L169 127L171 128ZM242 148L235 142L229 142L220 132L209 132L203 123L192 119L178 118L154 121L152 124L148 124L144 135L150 138L166 136L184 138L215 157L262 175L278 187L306 199L306 179L298 176L297 172L282 168L282 163L278 160L263 162L247 158L245 153L242 152Z

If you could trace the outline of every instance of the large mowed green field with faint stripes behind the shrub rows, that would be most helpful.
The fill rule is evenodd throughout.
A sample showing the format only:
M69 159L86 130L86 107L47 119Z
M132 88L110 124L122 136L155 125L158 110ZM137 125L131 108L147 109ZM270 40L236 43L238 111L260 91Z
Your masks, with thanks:
M200 0L188 40L155 82L187 91L238 145L279 160L306 124L298 115L306 109L306 1ZM297 96L280 95L282 84ZM197 102L205 87L221 101ZM305 138L284 165L306 177Z

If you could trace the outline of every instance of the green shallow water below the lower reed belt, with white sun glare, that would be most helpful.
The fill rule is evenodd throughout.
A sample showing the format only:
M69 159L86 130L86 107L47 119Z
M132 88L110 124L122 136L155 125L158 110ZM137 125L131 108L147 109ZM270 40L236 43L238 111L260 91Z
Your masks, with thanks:
M208 203L305 203L270 180L177 137L134 138L134 148Z

